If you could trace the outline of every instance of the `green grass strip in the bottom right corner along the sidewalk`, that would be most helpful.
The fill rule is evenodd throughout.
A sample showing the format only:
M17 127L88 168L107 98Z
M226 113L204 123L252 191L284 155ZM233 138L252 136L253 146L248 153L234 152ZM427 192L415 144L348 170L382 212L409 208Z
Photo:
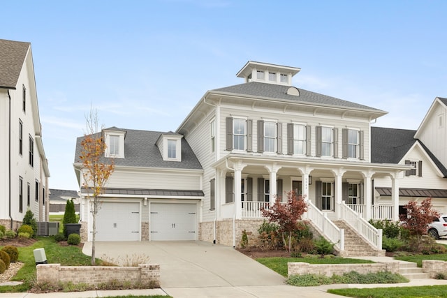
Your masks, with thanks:
M332 289L328 292L346 297L358 298L435 298L447 297L447 285L425 285L422 287L391 287L391 288L350 288Z

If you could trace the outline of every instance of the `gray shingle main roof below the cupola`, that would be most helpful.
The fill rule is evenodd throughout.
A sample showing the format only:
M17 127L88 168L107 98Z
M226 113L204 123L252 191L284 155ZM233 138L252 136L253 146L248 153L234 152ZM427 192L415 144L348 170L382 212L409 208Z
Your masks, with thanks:
M366 105L360 105L358 103L352 103L347 100L342 100L332 96L326 96L318 94L305 89L299 89L300 96L288 95L287 90L291 86L283 86L278 84L268 84L261 82L249 82L244 84L237 84L230 87L223 87L214 89L212 91L226 92L230 94L242 94L249 96L261 96L267 98L276 98L282 100L293 100L299 103L312 103L315 105L333 106L333 107L349 107L353 109L369 110L372 112L383 112L382 110L375 109L374 107L368 107Z

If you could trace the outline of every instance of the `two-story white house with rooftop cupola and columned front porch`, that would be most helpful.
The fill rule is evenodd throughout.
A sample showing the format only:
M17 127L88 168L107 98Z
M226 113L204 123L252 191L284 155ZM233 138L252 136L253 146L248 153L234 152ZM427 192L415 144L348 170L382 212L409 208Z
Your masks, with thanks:
M175 133L103 131L109 148L105 156L115 157L117 165L103 195L107 211L99 215L111 218L104 219L105 229L119 227L115 221L120 218L128 221L119 211L123 208L111 210L133 202L131 212L138 215L133 232L126 233L134 239L200 239L237 246L242 230L256 232L262 223L262 208L276 198L285 201L286 193L295 190L309 203L306 218L340 251L345 249L344 232L333 222L339 219L357 227L379 250L380 232L355 211L365 218L383 214L397 219L399 181L411 165L372 160L371 123L386 112L293 87L299 71L248 61L237 73L242 84L207 91ZM80 140L75 170L82 188ZM386 177L390 202L374 204L374 181ZM184 190L195 195L182 195ZM85 189L81 196L81 214L89 221ZM168 219L157 219L160 214ZM190 228L177 233L174 218ZM91 228L85 227L89 234ZM110 237L99 239L131 239L105 233Z

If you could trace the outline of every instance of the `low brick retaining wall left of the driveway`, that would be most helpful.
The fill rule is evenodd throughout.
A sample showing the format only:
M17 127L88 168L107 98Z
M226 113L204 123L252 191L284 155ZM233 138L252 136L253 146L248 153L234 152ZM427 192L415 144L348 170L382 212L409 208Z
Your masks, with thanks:
M37 283L59 282L99 285L112 281L160 286L160 265L138 265L138 267L111 266L61 266L60 264L40 264L36 266Z

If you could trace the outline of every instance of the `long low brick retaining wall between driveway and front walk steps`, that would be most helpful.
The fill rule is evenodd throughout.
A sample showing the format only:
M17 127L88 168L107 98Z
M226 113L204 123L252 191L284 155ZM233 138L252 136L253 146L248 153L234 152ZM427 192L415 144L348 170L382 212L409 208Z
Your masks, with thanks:
M287 263L288 276L303 274L322 274L332 276L333 274L343 275L351 271L360 274L376 273L380 271L389 271L399 273L399 263L375 263L375 264L317 264L311 265L305 262Z

